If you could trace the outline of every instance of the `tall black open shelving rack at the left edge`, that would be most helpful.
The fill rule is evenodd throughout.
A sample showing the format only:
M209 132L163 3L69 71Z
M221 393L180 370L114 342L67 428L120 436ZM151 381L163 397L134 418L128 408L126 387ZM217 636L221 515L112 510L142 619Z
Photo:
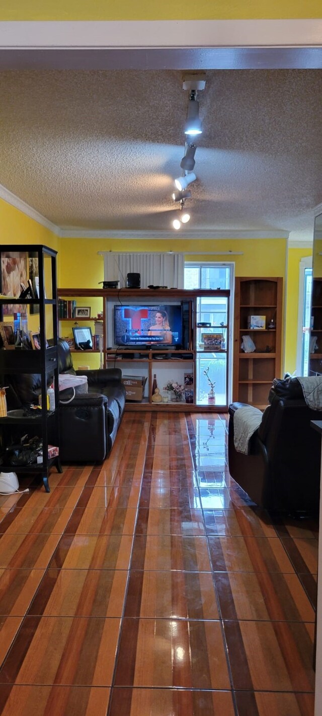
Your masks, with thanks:
M15 472L18 474L35 474L42 478L46 492L49 492L49 472L54 465L59 473L62 473L62 467L59 461L59 455L54 458L48 457L49 434L52 443L59 448L59 383L58 383L58 321L57 321L57 251L39 244L15 244L2 245L1 252L1 271L0 271L0 316L1 321L4 320L4 306L24 305L39 306L39 333L40 333L40 349L18 349L6 350L0 349L0 386L6 385L6 379L11 374L39 374L42 384L42 410L35 417L0 417L0 435L1 435L1 451L7 445L10 445L12 431L18 430L21 436L33 432L42 439L42 463L31 465L6 465L1 464L2 472ZM3 282L2 282L2 259L14 258L16 256L24 256L38 259L39 271L39 296L34 299L13 299L11 296L4 298ZM45 265L46 263L46 265ZM49 268L49 271L47 269ZM47 294L50 298L47 298ZM47 344L47 306L49 306L49 315L52 314L52 341L51 345ZM52 307L52 311L50 311ZM14 311L13 311L14 312ZM55 391L55 410L47 410L47 382L52 377Z

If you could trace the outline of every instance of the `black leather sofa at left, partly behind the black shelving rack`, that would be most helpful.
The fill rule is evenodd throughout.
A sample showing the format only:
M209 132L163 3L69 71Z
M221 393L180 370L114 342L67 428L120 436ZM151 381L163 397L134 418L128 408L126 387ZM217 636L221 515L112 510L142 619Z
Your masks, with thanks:
M59 402L59 454L62 462L102 463L112 449L125 409L125 387L118 368L75 371L66 341L59 339L59 373L87 375L88 393ZM6 379L9 410L37 403L40 376L12 374ZM64 391L66 393L66 391ZM72 392L71 394L72 395ZM68 400L69 393L64 395Z

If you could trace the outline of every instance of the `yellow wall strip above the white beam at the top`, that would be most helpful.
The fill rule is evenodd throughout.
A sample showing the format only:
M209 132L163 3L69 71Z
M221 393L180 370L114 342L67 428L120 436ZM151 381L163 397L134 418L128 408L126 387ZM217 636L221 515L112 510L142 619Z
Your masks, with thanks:
M185 20L321 17L320 0L0 0L1 20Z

